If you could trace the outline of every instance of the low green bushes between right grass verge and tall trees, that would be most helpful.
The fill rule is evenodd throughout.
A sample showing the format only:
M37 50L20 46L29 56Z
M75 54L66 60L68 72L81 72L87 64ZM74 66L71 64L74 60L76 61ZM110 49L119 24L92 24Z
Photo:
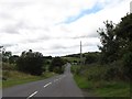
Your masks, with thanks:
M75 68L75 73L87 77L88 80L124 80L122 62L114 62L108 65L85 65ZM77 73L78 72L78 73Z

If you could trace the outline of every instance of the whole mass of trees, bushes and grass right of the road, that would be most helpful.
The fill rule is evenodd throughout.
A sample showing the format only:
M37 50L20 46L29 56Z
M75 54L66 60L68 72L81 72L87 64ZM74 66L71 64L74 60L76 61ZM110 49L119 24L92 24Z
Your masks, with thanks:
M91 89L99 97L129 98L132 79L132 13L122 18L117 25L106 21L105 29L99 29L98 33L102 44L99 46L101 64L92 62L95 56L85 55L87 65L72 67L75 80L80 88Z

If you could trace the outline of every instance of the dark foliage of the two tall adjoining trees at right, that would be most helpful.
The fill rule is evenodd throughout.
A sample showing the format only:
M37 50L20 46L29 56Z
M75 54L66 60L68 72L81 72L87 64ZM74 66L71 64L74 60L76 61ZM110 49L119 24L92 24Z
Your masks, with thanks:
M102 44L99 46L101 51L100 62L102 64L123 62L117 68L121 68L121 73L124 73L122 78L128 79L132 76L132 13L122 18L117 25L109 21L106 21L105 25L106 29L98 31Z

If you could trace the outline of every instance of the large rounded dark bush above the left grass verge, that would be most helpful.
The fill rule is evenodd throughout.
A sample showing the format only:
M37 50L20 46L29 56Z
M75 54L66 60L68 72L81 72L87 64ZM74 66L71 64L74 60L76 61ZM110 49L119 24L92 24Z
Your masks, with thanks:
M31 75L41 75L43 73L43 55L38 52L23 52L16 62L18 69Z

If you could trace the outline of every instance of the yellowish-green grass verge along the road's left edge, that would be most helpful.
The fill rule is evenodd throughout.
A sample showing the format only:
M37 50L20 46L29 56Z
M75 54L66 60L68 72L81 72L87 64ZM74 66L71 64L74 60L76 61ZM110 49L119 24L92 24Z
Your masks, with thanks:
M22 85L31 81L42 80L55 76L55 73L45 72L42 76L32 76L30 74L20 73L16 70L3 72L7 80L2 80L2 88Z

